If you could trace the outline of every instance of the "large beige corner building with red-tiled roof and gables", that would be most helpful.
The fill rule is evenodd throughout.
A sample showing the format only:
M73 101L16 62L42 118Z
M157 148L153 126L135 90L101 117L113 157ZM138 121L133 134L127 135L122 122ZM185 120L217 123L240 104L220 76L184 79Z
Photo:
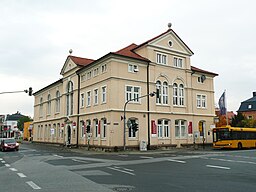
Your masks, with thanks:
M217 74L191 66L192 55L172 29L97 60L69 55L63 78L34 93L33 140L102 149L212 142Z

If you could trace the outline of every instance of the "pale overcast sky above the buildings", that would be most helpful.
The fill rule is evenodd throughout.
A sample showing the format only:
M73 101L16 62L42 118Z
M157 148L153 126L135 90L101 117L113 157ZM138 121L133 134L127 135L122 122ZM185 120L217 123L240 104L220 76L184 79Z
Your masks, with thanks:
M256 91L254 0L0 0L0 92L57 81L68 56L97 59L172 29L194 52L191 65L219 74L215 103L228 110ZM0 114L33 117L34 98L0 94Z

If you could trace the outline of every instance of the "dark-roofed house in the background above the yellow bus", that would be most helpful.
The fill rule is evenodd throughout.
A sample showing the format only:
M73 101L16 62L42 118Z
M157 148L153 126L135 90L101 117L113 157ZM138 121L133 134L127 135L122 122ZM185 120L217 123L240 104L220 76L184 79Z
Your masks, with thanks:
M247 119L256 120L256 92L252 93L252 98L241 102L238 113L242 113Z

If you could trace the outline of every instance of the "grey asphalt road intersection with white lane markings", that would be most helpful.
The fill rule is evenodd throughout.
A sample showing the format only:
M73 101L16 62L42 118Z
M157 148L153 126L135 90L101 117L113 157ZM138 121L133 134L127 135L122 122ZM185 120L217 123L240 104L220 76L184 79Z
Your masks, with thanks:
M256 150L88 152L21 144L0 152L0 191L256 191Z

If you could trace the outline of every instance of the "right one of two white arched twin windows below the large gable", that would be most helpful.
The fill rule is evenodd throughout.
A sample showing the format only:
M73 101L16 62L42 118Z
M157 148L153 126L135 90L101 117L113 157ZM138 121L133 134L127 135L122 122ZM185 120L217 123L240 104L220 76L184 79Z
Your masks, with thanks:
M173 105L184 106L184 85L183 84L173 84Z

